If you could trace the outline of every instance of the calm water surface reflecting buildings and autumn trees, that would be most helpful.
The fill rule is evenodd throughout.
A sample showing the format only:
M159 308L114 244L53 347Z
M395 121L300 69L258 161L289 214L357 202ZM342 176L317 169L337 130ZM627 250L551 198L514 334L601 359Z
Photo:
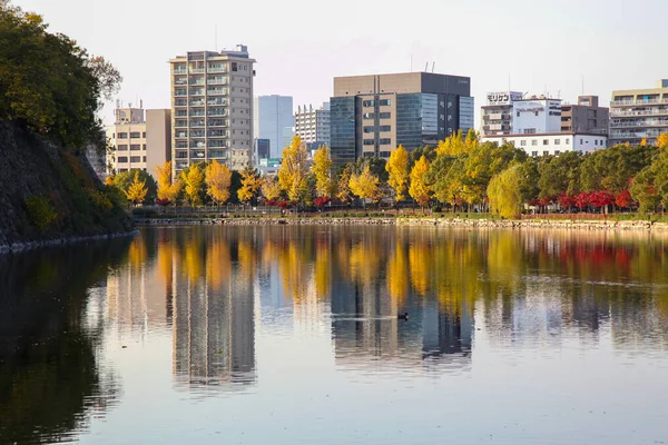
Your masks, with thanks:
M0 258L0 444L668 444L667 241L191 227Z

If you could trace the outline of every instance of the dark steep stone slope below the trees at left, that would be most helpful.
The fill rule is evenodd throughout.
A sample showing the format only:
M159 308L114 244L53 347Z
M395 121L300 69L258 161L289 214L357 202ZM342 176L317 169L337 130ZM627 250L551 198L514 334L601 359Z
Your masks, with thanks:
M0 253L131 230L122 198L97 179L84 151L0 122Z

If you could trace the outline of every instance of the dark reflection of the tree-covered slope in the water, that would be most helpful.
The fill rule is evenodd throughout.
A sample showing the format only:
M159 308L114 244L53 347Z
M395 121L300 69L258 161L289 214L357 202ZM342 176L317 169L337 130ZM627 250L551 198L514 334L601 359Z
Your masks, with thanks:
M118 403L99 359L104 322L86 306L128 243L0 257L0 442L76 441Z

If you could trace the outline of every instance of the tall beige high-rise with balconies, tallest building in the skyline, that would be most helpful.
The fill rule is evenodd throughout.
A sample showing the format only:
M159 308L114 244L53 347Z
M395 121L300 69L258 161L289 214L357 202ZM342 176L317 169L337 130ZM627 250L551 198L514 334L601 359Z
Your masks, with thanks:
M230 51L188 52L169 61L175 176L191 164L213 159L232 168L232 148L247 149L250 156L254 62L243 44Z

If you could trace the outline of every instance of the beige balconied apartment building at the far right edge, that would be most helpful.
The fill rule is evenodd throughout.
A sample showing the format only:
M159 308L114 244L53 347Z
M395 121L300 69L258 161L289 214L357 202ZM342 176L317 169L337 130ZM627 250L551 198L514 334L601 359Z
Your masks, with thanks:
M612 91L610 102L610 145L656 144L668 132L668 79L657 88Z

